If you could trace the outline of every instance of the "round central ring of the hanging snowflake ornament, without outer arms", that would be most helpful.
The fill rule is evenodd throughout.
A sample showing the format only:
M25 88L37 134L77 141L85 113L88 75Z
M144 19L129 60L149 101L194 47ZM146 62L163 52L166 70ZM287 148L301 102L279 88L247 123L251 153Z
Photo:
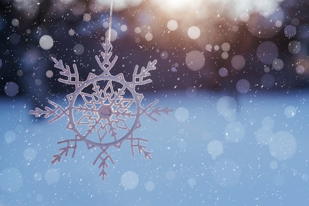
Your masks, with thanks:
M88 80L88 84L78 87L70 101L69 122L75 122L70 125L71 130L91 145L119 145L140 127L136 117L141 112L140 100L143 95L137 94L132 87L125 86L127 83L119 77L100 75L88 77ZM117 90L114 88L116 84L120 86ZM84 91L90 87L92 94ZM77 102L82 104L77 105ZM134 105L135 108L132 108ZM136 111L133 112L132 109ZM134 123L129 124L128 120L132 118L135 118ZM92 137L96 135L97 138Z

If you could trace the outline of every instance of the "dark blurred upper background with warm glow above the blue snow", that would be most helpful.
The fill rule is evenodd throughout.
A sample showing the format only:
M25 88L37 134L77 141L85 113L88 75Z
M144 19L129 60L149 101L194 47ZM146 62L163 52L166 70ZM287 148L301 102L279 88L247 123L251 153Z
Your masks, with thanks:
M94 56L109 29L109 0L0 2L1 96L12 88L42 104L67 92L52 56L76 63L81 79L100 72ZM301 0L115 0L114 71L130 76L157 59L152 85L140 88L147 91L304 88L308 9Z

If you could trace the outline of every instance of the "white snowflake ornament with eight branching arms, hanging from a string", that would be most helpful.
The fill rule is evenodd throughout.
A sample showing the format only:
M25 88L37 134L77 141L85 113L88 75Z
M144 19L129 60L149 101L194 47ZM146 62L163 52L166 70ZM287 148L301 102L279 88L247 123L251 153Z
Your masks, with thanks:
M53 116L48 123L53 123L66 116L68 118L66 128L75 133L75 138L58 141L58 144L64 144L64 146L59 149L60 153L53 155L51 164L60 162L63 155L67 156L70 150L74 157L77 142L83 141L88 149L94 147L100 149L93 165L99 164L98 167L102 169L99 175L104 180L107 175L106 168L109 167L108 162L115 164L108 149L112 146L120 148L125 140L131 143L132 155L135 155L137 149L138 153L143 153L146 159L151 159L151 152L147 151L147 146L144 145L148 139L133 135L134 131L141 127L141 115L145 114L157 121L154 114L168 114L173 110L169 107L163 109L161 106L154 107L159 102L158 100L143 108L141 102L144 96L136 92L136 86L152 82L147 77L150 76L149 71L156 69L156 60L148 62L147 67L142 67L140 71L136 65L132 82L128 82L122 73L115 76L110 73L118 57L115 56L111 60L113 46L107 38L105 43L102 43L102 47L104 49L104 52L101 52L103 62L97 55L95 59L103 72L101 75L90 72L85 81L79 80L76 64L73 64L74 72L72 73L69 66L63 65L62 60L52 58L55 63L54 67L60 69L60 74L65 76L65 78L59 78L58 81L75 86L75 91L66 96L69 106L62 108L59 104L49 100L48 103L55 108L45 106L43 110L36 107L29 114L34 114L36 117L44 115L45 118Z

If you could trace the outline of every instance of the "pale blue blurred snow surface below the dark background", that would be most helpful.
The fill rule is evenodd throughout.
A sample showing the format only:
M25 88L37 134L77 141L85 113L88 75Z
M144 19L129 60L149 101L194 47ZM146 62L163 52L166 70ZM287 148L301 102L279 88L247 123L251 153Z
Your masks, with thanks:
M92 163L98 149L78 142L51 165L66 117L29 115L20 98L0 99L1 206L308 206L308 91L227 94L197 90L145 95L174 112L141 117L135 137L149 139L152 160L130 142L109 152L105 181ZM60 104L61 99L53 100ZM66 103L64 102L65 106ZM50 105L47 105L50 106Z

